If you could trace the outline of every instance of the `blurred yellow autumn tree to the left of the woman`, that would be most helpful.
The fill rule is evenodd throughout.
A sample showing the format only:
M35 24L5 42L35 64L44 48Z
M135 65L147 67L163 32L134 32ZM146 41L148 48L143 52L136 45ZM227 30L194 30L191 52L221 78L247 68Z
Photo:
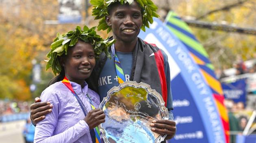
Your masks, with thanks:
M0 98L31 100L31 61L37 59L45 67L43 60L47 59L57 32L62 34L76 25L83 26L82 23L45 24L46 20L57 19L58 6L57 0L0 0ZM33 96L38 97L52 77L51 71L43 68L43 82Z

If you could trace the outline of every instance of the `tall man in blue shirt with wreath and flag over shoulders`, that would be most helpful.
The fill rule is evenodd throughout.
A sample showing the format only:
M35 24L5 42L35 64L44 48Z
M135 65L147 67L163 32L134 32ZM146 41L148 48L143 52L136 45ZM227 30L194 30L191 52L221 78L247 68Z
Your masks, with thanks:
M102 5L103 2L104 0L97 0L97 2L91 0L94 6L93 15L97 19L103 19L98 25L98 30L108 29L108 32L112 30L116 42L115 45L109 47L111 59L107 58L104 53L101 54L91 77L87 80L89 88L98 92L102 100L109 89L124 81L132 80L149 84L152 89L163 96L169 110L169 120L153 122L152 131L167 134L166 139L171 139L175 135L176 124L171 113L173 107L167 55L155 45L148 44L137 37L140 29L145 30L148 22L153 22L152 16L158 16L155 13L157 8L150 0L143 0L143 2L148 2L148 5L141 0L124 0L123 2L126 2L124 4L121 4L120 0L113 0L108 3L107 7ZM145 6L152 8L146 11ZM100 14L99 9L105 12ZM119 60L120 65L117 65L115 60ZM40 102L40 99L37 98L36 102ZM50 103L32 104L30 116L33 122L43 120L45 115L51 111L51 106Z

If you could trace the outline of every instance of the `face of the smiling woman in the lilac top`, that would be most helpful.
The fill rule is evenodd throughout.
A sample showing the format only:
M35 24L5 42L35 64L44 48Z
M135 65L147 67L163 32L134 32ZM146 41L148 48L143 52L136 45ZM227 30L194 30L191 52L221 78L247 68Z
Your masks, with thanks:
M65 76L70 81L82 85L95 66L93 46L78 40L74 47L68 48L63 61Z

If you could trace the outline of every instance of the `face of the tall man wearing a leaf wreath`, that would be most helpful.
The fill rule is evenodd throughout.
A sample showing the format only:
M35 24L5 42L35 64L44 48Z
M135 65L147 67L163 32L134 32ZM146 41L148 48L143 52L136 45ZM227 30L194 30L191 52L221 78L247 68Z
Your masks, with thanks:
M110 6L109 15L106 17L108 26L111 26L113 38L122 42L137 40L141 26L141 8L137 2L131 5L115 3Z

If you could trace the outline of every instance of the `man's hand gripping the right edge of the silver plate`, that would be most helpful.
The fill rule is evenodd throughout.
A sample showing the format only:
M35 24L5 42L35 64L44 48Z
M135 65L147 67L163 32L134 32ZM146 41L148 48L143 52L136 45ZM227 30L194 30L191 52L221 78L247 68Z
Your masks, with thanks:
M151 130L160 135L167 134L165 139L171 139L176 132L176 123L171 120L156 120L150 124L153 128Z

